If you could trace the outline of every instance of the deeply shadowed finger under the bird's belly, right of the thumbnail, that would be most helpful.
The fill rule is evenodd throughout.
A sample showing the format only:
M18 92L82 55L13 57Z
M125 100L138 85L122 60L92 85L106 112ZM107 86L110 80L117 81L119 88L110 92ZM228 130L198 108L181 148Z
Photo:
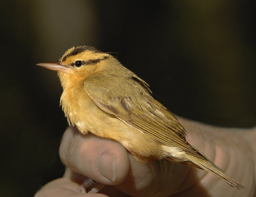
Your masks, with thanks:
M138 162L130 155L127 179L116 187L131 196L171 196L184 189L188 166L169 161Z

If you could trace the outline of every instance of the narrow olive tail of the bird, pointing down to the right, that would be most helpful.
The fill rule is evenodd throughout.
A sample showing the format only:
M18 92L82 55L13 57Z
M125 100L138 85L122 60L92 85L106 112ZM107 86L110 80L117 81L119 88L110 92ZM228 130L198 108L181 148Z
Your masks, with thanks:
M196 164L196 166L205 169L206 171L211 172L212 174L216 175L217 177L220 177L222 180L230 184L232 187L236 187L237 189L244 189L245 187L239 182L237 182L234 178L230 177L227 173L225 173L223 170L218 168L214 163L209 161L208 159L202 159L190 154L186 154L189 161Z

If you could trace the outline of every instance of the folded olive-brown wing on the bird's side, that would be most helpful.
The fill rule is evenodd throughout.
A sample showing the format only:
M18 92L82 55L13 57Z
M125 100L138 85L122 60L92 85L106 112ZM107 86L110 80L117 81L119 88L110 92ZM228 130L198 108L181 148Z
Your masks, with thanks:
M113 76L102 77L88 77L84 81L84 90L100 109L113 114L130 127L140 130L164 145L204 158L189 145L184 127L166 107L150 95L148 84L142 79L137 76L137 80L134 80L134 76L116 76L115 81L118 83L111 86L113 83L109 80L113 80ZM119 86L116 87L116 84ZM132 95L129 95L130 92Z

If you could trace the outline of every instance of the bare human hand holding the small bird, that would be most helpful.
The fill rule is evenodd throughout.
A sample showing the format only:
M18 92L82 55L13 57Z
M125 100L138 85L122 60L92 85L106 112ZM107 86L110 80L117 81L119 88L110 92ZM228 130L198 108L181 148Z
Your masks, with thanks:
M241 182L235 189L211 173L169 161L138 162L111 139L83 136L69 127L60 146L66 169L44 185L40 196L255 196L256 127L227 129L178 117L187 140L212 162ZM106 184L100 193L77 193L87 177Z

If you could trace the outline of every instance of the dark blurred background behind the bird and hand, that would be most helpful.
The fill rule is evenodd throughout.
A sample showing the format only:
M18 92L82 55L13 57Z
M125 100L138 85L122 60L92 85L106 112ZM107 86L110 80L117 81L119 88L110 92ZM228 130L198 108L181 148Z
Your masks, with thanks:
M3 1L0 195L33 196L63 175L67 120L56 61L92 45L150 84L173 113L221 127L256 123L253 1Z

